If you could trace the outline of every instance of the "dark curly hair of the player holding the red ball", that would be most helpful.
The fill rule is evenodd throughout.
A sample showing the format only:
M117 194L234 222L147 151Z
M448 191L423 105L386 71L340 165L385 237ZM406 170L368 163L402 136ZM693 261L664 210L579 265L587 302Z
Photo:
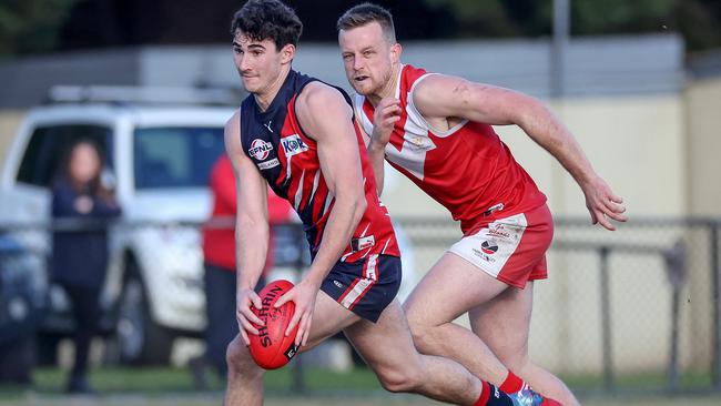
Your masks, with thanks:
M254 41L271 40L281 50L298 44L303 23L278 0L250 0L233 16L231 34L235 37L238 30Z

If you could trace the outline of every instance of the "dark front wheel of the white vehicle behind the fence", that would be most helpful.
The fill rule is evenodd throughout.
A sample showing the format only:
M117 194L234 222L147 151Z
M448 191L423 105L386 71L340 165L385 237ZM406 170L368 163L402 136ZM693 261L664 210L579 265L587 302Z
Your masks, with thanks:
M173 334L153 319L148 292L134 262L129 263L125 275L116 327L120 362L132 365L167 365Z

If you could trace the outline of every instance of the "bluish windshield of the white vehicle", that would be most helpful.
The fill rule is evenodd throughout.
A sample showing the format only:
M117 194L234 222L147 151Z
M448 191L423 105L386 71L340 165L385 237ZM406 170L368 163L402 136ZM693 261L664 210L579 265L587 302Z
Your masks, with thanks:
M133 140L135 189L206 186L224 152L222 126L144 128Z

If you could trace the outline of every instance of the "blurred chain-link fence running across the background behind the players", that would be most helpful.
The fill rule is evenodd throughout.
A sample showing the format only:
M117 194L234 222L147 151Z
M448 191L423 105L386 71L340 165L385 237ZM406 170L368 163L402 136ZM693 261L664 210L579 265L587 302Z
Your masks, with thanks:
M447 219L396 221L404 255L413 260L408 275L423 276L460 237ZM163 361L177 334L202 334L200 226L110 227L101 302L116 359L154 354ZM657 219L611 233L557 219L549 280L535 286L531 357L580 390L721 389L720 229L718 219ZM308 261L299 225L275 231L275 271L297 274ZM31 312L42 307L38 297L45 316L33 321L45 338L72 328L61 323L69 314L62 292L47 284L49 253L47 226L0 226L0 337L39 314ZM302 371L294 385L303 385Z

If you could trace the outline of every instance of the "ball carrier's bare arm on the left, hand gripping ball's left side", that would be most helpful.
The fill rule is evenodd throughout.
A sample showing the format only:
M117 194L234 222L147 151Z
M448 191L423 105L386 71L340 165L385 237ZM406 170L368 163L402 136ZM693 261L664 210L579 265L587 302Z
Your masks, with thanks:
M241 144L240 112L225 124L225 150L235 173L237 215L235 217L235 253L237 263L236 311L238 329L246 345L248 333L257 335L251 324L263 325L252 312L260 309L261 298L253 291L265 265L268 248L267 184L251 162Z

